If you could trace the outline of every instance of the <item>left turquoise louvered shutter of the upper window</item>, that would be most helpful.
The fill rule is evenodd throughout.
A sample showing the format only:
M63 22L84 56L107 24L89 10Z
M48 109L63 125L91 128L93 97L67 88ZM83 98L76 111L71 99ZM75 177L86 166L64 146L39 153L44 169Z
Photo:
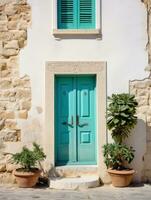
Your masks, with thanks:
M77 0L58 0L58 28L77 28Z

